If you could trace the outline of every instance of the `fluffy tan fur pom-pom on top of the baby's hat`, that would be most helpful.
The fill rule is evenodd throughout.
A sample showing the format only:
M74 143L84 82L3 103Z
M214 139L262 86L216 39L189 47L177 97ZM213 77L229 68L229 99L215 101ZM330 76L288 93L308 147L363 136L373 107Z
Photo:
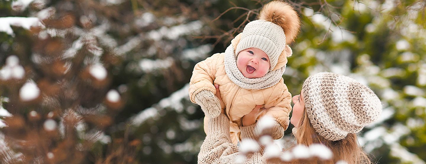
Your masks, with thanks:
M292 43L299 33L299 16L288 3L276 0L266 4L260 11L259 19L281 26L284 29L287 44Z

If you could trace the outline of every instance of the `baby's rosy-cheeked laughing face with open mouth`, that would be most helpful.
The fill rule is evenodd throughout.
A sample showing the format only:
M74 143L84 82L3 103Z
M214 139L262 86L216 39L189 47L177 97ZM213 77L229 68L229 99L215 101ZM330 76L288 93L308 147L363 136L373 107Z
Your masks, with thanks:
M238 53L237 67L246 78L260 78L268 73L271 65L261 49L248 48Z

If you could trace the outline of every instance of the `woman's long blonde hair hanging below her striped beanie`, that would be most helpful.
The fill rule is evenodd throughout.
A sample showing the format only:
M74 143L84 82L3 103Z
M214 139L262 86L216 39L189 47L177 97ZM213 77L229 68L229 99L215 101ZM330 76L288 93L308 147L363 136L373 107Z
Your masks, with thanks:
M296 127L294 127L296 128ZM311 122L308 118L306 109L303 112L302 119L300 120L299 127L296 129L295 134L297 144L311 145L323 144L333 152L333 157L328 161L308 161L308 163L317 164L335 164L337 161L343 160L348 164L371 164L368 155L359 146L357 134L348 133L348 135L338 141L329 141L315 132ZM304 161L303 163L307 163Z

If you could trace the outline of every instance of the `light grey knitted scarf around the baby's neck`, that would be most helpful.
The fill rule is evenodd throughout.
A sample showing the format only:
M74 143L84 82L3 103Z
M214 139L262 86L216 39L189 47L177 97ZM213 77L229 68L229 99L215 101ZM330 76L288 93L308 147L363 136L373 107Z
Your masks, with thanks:
M268 72L260 78L246 78L237 67L236 54L232 44L225 50L225 72L228 78L244 89L265 89L277 84L285 71L285 66Z

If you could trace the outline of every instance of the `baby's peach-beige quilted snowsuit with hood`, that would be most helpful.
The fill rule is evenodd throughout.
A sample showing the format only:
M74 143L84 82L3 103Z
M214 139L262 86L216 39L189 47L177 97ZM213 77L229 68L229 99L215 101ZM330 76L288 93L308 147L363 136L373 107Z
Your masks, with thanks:
M231 43L236 48L240 35L237 35ZM286 49L279 56L278 63L273 70L279 69L287 63L287 55L291 53ZM201 90L208 90L216 94L214 84L219 85L222 100L225 103L226 115L230 119L230 135L234 144L239 141L242 126L242 116L247 115L256 105L264 105L267 108L266 115L271 115L284 129L289 124L291 111L291 93L288 92L284 79L266 89L244 89L233 83L225 72L225 53L216 53L196 64L190 80L189 96L193 103L195 95ZM262 116L259 116L259 118ZM208 117L204 117L204 132L207 134Z

